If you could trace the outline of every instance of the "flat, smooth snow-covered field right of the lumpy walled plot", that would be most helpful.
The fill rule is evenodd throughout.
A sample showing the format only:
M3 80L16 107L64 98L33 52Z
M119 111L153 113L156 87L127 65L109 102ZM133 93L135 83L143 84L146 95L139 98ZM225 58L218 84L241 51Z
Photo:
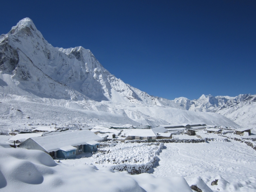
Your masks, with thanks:
M244 143L209 141L164 146L151 170L155 177L181 176L190 184L200 176L215 191L256 191L256 151ZM220 179L218 185L212 186L215 179Z

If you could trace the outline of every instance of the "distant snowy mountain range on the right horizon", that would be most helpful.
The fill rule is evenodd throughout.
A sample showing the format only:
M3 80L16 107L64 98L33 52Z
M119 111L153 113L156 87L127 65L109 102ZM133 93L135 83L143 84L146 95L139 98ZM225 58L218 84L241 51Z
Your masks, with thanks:
M256 95L240 94L236 97L202 95L197 100L180 97L173 101L187 110L219 113L243 126L256 125Z

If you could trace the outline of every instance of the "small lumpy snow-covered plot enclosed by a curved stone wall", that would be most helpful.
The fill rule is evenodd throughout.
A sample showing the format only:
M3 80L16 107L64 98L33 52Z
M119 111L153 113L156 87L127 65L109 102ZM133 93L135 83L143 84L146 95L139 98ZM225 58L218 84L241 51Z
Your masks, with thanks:
M93 155L95 164L110 166L117 171L130 174L147 172L156 162L156 155L163 143L119 143L116 146L102 148Z

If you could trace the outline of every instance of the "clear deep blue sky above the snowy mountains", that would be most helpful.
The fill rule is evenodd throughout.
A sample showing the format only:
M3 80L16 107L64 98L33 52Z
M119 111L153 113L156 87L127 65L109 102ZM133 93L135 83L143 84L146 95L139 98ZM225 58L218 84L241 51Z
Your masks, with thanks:
M25 17L150 95L256 94L255 0L1 1L0 34Z

